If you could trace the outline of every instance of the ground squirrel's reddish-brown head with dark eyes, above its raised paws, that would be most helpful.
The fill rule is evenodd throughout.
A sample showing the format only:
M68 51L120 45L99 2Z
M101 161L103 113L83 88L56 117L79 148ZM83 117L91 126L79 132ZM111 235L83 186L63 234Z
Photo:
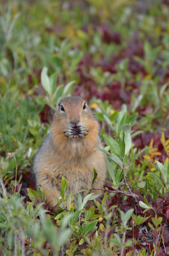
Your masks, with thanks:
M61 99L54 114L53 124L60 131L70 127L74 129L98 128L98 122L86 101L82 97L76 96Z

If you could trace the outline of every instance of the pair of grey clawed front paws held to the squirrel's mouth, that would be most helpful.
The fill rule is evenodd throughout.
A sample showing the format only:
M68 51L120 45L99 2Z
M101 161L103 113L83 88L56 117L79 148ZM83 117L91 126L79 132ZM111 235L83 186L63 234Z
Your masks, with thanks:
M64 136L67 138L83 138L89 133L89 129L84 126L79 127L78 129L74 129L73 127L69 127L68 129L63 130Z

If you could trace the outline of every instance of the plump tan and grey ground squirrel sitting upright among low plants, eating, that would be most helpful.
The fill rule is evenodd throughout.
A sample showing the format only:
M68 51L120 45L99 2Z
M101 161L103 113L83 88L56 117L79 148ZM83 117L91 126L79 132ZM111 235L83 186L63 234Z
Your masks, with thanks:
M54 113L51 133L35 155L33 170L36 185L44 185L46 202L57 204L62 176L67 180L68 193L91 187L101 188L106 165L99 138L99 124L86 101L81 97L63 98ZM93 151L94 150L94 151ZM92 184L93 168L97 178ZM93 190L91 193L100 193ZM84 197L87 193L83 193Z

